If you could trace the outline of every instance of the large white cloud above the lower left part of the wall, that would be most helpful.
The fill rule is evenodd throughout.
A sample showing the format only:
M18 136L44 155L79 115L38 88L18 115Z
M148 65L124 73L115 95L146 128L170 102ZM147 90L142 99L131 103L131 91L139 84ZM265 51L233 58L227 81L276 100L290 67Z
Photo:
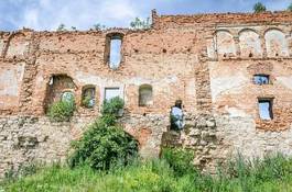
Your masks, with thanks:
M79 30L88 30L96 23L128 26L139 10L130 0L40 0L24 8L18 25L35 30L54 30L61 23Z

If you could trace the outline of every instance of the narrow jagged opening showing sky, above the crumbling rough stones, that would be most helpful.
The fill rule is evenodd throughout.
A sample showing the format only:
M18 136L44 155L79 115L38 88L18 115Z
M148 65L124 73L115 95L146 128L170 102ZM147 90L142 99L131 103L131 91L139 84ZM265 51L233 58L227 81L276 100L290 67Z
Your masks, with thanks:
M175 105L171 109L171 129L180 131L184 127L184 114L182 100L176 100Z

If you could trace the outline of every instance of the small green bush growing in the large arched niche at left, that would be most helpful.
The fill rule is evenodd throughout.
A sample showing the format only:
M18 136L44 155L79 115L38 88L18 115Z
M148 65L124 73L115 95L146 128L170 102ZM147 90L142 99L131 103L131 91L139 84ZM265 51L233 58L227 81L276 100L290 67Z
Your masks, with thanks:
M68 122L73 116L75 109L74 99L68 101L61 100L48 106L47 116L53 122Z

